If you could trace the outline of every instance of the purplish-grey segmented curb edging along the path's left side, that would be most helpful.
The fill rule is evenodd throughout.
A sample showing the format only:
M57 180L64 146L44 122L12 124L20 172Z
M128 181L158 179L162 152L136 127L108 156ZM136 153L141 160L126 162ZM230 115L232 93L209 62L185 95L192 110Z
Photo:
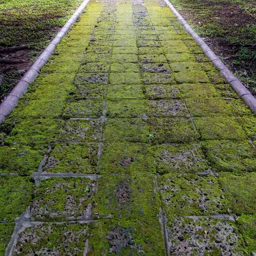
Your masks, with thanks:
M41 53L38 59L32 64L26 74L20 79L20 81L15 85L8 96L3 100L0 105L0 124L3 123L14 108L17 106L19 99L27 92L29 84L31 84L35 78L38 76L38 72L43 67L48 59L54 53L56 46L61 42L61 39L69 32L71 26L76 22L79 15L83 12L90 0L84 0L79 6L76 12L71 16L67 23L62 27L58 34L53 38L46 49Z

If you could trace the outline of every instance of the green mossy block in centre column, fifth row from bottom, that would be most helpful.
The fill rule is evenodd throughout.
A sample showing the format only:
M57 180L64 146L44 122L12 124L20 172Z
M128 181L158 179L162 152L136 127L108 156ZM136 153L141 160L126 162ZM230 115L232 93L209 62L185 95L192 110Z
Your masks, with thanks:
M147 102L125 99L107 102L108 118L142 117L147 114Z

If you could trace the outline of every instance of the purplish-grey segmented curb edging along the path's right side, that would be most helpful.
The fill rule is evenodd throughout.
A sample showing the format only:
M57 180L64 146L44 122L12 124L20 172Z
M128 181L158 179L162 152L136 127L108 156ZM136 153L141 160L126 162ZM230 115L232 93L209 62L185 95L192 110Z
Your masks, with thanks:
M177 12L175 7L168 1L164 0L167 6L172 10L173 14L177 18L177 20L183 25L183 28L195 41L199 44L205 55L212 62L213 66L217 68L221 76L226 80L228 84L230 84L233 89L238 93L239 97L244 100L244 103L248 105L251 110L256 114L256 99L252 96L252 94L247 90L244 85L234 76L230 70L222 63L222 61L215 55L214 52L208 47L208 45L204 42L204 40L192 29L191 26L186 22L186 20Z

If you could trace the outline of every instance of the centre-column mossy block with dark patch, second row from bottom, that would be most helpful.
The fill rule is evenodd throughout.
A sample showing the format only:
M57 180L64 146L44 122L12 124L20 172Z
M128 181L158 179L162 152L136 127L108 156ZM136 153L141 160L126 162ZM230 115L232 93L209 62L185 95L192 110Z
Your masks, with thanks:
M161 205L154 182L150 174L99 177L94 218L132 218L154 224Z

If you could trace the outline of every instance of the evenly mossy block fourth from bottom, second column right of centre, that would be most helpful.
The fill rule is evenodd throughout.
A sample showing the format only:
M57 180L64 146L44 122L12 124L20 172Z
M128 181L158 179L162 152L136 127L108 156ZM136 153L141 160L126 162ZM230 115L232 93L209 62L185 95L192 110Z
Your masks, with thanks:
M246 134L232 116L195 117L202 140L245 140Z

